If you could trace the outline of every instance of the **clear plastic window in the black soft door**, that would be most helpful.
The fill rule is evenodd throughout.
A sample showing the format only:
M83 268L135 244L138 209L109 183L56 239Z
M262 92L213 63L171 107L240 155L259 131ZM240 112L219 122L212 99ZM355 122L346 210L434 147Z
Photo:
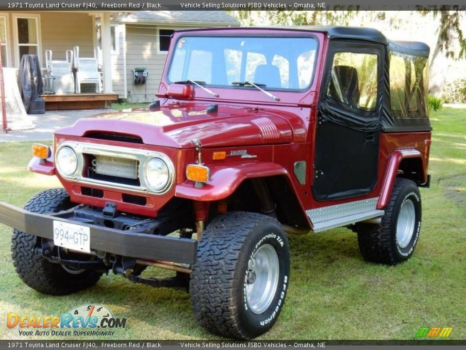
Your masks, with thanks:
M352 108L375 110L377 67L376 54L335 53L327 96Z

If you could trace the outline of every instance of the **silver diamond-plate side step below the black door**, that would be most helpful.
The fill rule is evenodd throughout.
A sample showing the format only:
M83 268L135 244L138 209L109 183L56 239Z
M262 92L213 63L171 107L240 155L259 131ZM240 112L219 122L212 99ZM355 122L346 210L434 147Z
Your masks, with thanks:
M329 207L306 210L307 216L315 226L322 221L342 218L344 216L359 214L377 209L379 197L363 199L350 203L337 204Z

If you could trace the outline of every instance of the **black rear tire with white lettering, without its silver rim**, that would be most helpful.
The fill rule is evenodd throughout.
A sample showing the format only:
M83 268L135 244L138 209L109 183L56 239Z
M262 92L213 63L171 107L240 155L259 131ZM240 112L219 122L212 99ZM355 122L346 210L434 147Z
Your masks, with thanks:
M414 231L406 246L401 247L397 239L397 223L401 204L411 200L414 204ZM397 178L390 201L385 208L380 225L358 224L358 244L364 259L369 262L396 265L413 255L421 228L421 196L414 181Z

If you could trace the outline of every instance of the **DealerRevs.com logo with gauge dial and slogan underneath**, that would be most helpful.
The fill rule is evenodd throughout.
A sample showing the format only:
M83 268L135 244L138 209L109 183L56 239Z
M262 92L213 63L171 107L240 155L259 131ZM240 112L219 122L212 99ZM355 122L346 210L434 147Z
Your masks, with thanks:
M24 336L101 336L114 335L114 329L126 327L126 318L117 318L105 306L81 305L61 316L27 316L9 313L8 328L19 328Z

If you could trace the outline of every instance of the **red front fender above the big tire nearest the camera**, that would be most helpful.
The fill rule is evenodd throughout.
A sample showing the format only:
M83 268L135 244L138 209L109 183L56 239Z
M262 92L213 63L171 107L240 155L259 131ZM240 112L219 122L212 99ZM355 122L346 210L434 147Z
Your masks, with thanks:
M194 181L186 180L175 188L175 197L197 201L216 201L231 195L248 178L289 174L281 165L271 162L229 163L224 166L209 166L210 179L201 188Z

